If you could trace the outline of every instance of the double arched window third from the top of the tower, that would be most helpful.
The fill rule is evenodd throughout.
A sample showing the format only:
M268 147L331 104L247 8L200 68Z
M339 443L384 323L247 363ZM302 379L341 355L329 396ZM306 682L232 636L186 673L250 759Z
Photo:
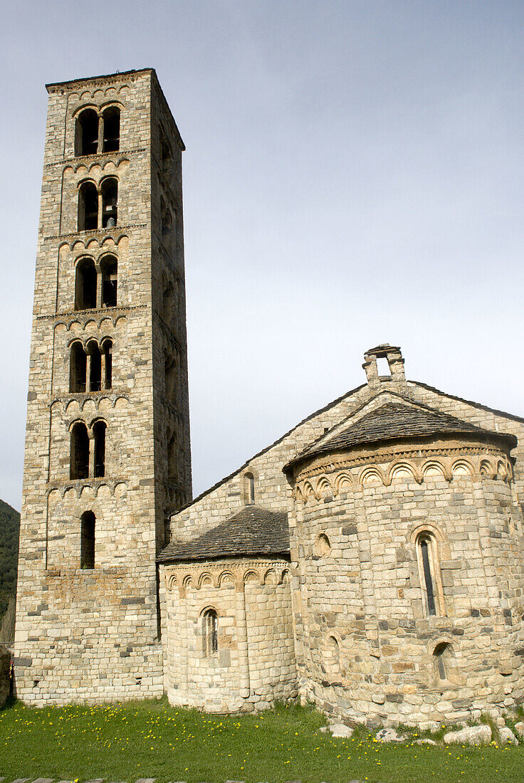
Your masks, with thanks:
M91 310L117 306L118 262L114 255L104 256L99 264L81 258L76 266L74 309Z

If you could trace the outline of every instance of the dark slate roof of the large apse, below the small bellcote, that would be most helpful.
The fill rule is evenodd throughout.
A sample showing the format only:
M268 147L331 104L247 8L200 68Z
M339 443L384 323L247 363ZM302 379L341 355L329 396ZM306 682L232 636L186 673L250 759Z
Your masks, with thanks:
M457 434L477 435L483 440L497 438L504 440L510 449L517 445L515 435L475 427L474 424L431 408L415 408L399 402L386 402L385 405L367 413L351 427L334 435L334 438L306 449L286 467L301 462L309 456L351 449L352 446L363 446L367 443Z

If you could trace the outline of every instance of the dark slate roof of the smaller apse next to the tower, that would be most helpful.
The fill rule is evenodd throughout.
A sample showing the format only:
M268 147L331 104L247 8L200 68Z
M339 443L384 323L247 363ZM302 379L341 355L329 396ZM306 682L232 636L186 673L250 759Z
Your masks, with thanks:
M289 528L285 511L245 506L221 525L190 541L172 541L158 560L213 560L243 555L289 555Z

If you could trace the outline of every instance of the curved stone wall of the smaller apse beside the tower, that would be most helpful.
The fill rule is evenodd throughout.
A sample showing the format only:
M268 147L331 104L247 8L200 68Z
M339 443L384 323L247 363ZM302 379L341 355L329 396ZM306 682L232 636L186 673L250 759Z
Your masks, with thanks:
M229 713L266 709L297 694L288 564L222 561L161 568L167 587L163 639L174 705ZM204 613L218 615L206 644Z

